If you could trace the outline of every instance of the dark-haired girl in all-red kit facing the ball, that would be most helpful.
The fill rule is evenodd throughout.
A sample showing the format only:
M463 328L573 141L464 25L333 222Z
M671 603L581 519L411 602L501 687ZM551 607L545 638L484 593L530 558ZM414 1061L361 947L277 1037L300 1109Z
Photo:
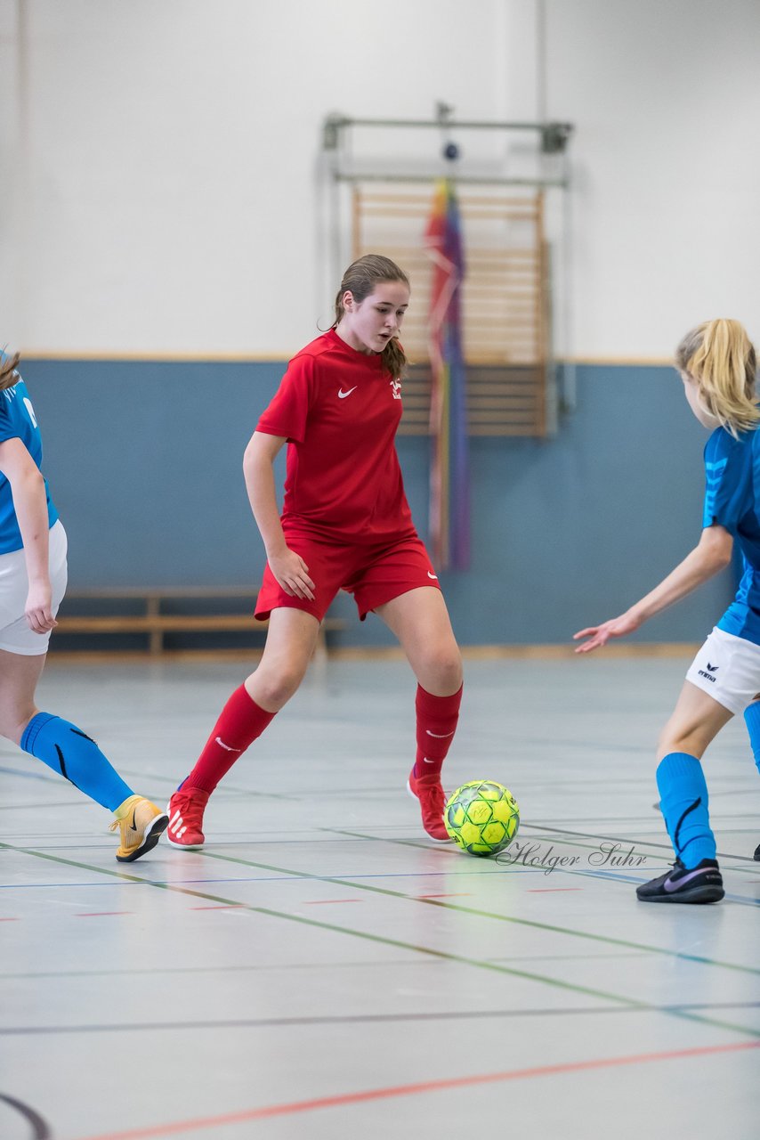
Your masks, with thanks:
M267 549L256 618L269 618L258 669L229 698L169 804L167 836L203 845L210 795L297 690L338 589L395 634L417 677L417 755L409 791L423 826L446 840L441 766L461 701L461 658L438 577L403 492L394 437L406 358L398 341L409 280L368 254L345 271L335 324L293 360L261 416L243 469ZM272 464L287 443L285 503Z

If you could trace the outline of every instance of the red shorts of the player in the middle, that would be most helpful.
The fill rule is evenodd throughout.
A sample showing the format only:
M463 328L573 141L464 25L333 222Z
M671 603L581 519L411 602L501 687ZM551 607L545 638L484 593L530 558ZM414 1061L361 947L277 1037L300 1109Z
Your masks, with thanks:
M286 535L286 542L309 568L314 601L286 594L267 563L255 609L260 621L278 606L304 610L321 621L340 589L353 594L363 621L370 610L410 589L441 588L427 551L416 535L381 546L336 546L312 535L294 534Z

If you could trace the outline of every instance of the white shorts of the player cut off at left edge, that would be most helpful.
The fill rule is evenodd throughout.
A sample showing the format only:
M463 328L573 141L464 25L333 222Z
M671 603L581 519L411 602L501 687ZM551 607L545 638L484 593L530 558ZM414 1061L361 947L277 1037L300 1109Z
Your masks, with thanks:
M49 567L54 614L58 612L66 593L67 548L66 531L58 520L50 528ZM28 575L24 552L0 554L0 649L6 653L21 653L22 657L39 657L40 653L48 652L51 630L35 634L30 629L24 614L27 594Z

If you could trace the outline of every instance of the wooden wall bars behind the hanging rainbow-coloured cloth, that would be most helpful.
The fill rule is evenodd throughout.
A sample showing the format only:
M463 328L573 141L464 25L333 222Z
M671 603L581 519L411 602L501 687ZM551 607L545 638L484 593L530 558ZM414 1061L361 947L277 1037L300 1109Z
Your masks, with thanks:
M466 276L463 344L471 435L547 433L548 296L541 193L459 196ZM427 311L431 261L424 234L433 187L399 193L353 188L353 253L382 252L410 276L414 304L403 324L412 363L404 382L403 434L426 434L430 415Z

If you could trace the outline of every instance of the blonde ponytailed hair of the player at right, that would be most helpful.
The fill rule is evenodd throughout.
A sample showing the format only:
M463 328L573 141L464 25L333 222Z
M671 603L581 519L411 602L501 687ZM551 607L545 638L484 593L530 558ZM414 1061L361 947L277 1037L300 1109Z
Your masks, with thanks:
M697 386L700 404L736 438L760 423L754 348L738 320L705 320L676 349L676 364Z

